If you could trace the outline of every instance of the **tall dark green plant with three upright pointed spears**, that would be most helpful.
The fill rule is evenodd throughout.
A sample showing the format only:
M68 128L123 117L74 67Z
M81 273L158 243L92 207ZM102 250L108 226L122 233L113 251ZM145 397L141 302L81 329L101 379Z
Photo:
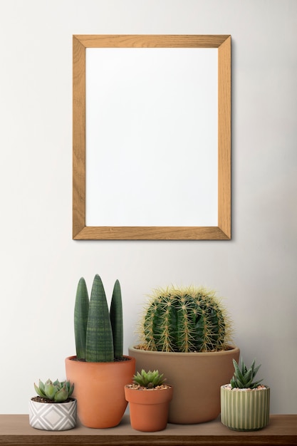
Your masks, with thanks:
M75 298L74 331L78 361L112 362L123 357L123 308L118 280L109 311L100 276L94 277L90 301L85 279L80 279Z

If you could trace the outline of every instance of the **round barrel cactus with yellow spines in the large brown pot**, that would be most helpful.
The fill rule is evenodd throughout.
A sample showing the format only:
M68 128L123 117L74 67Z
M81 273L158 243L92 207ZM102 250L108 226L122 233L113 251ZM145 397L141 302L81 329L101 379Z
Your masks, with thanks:
M140 323L140 348L150 351L226 350L231 319L214 291L190 286L156 289Z

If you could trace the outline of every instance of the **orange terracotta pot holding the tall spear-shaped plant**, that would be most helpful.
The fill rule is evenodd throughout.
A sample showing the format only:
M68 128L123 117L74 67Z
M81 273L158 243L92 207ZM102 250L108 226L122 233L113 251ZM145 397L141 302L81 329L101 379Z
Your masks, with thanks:
M104 429L117 426L127 407L124 386L132 383L135 359L112 363L87 363L76 356L66 358L67 380L74 383L78 418L86 427Z

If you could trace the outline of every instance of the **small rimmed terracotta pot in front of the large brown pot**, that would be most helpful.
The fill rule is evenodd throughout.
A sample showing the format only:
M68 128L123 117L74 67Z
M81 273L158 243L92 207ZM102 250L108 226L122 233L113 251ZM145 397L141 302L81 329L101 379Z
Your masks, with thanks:
M133 429L156 432L167 426L173 388L141 390L125 385L125 398L130 405L130 423Z

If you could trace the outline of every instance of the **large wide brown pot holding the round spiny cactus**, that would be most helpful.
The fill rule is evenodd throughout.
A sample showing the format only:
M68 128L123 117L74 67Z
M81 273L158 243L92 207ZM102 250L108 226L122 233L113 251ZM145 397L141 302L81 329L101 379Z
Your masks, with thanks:
M136 370L157 369L174 387L168 421L196 424L214 420L221 410L220 388L234 373L232 359L239 361L239 348L207 353L167 353L129 348Z

